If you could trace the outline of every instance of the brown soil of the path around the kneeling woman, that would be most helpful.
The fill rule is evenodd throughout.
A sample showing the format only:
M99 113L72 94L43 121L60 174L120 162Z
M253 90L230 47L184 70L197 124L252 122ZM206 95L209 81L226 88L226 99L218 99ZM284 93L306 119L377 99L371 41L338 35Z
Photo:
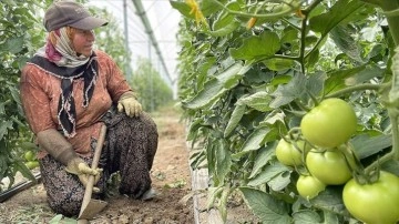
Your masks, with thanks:
M157 195L152 201L137 201L114 194L109 205L90 223L194 223L191 195L190 152L185 142L185 125L180 122L177 109L168 106L152 116L155 120L160 142L151 172L153 189ZM54 214L47 204L42 184L22 191L0 204L0 223L50 223L61 215ZM63 217L63 222L75 223Z

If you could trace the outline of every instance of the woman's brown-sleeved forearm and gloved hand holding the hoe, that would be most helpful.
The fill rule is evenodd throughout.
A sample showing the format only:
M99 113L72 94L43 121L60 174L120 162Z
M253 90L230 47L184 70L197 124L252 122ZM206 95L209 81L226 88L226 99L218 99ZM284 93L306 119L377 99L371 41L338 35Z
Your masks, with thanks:
M94 175L94 184L100 180L101 169L93 170L75 153L73 146L55 129L48 129L37 134L39 146L45 150L57 161L66 166L65 171L78 175L84 186L89 181L89 175ZM93 192L99 192L93 187Z

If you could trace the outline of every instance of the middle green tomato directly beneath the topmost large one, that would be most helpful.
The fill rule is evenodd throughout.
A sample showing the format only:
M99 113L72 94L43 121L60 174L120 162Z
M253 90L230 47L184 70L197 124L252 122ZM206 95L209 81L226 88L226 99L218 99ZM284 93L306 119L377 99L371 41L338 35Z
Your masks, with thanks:
M306 166L318 180L327 185L345 184L351 177L345 155L339 150L310 151Z

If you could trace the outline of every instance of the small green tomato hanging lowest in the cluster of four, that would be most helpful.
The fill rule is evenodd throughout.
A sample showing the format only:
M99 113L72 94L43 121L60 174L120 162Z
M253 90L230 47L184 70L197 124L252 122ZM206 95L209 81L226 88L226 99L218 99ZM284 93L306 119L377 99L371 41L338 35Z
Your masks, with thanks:
M311 200L326 189L326 184L311 175L300 175L296 183L300 196Z

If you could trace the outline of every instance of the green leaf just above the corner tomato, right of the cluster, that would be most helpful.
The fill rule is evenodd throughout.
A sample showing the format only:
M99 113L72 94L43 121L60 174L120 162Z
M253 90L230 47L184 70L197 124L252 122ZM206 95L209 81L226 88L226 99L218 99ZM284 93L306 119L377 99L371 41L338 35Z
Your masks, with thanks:
M392 138L385 134L377 136L360 134L351 139L350 143L354 145L354 150L357 156L359 159L365 159L367 156L381 152L383 149L391 146Z

